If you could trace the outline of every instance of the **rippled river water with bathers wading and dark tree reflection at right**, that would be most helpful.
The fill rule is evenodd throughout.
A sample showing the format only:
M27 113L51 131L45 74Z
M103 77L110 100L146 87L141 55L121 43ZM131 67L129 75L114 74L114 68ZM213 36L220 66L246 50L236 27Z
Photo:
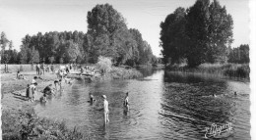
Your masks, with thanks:
M35 111L41 117L65 119L94 139L203 139L206 127L227 122L234 128L228 138L250 139L249 83L163 70L144 72L147 76L139 80L77 80ZM127 91L126 114L122 103ZM89 92L96 97L95 105L88 103ZM102 94L109 102L106 126L99 110Z

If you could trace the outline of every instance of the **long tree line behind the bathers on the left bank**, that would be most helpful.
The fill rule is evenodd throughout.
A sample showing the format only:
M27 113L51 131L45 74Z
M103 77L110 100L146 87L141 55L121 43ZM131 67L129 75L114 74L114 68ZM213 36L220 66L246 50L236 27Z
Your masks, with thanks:
M27 34L22 39L21 51L14 53L16 59L2 63L96 63L99 56L111 58L116 66L158 62L140 31L128 28L125 19L111 5L96 5L88 12L87 22L86 33L75 30ZM8 54L3 47L2 52Z

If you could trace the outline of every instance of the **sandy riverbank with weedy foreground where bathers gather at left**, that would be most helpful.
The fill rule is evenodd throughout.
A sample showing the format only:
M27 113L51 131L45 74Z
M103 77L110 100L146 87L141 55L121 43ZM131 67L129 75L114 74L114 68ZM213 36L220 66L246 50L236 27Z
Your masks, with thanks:
M1 73L2 138L23 139L25 137L41 139L85 139L77 129L69 129L63 121L37 117L33 108L42 96L37 92L36 102L28 102L26 87L35 76L35 71L22 72L27 80L15 79L16 73ZM37 91L41 91L56 78L54 73L45 73L37 80Z

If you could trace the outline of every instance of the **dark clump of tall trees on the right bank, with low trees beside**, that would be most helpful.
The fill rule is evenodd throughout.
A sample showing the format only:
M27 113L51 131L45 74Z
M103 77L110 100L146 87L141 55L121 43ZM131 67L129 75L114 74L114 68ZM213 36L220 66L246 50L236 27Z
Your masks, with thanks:
M197 0L188 9L179 7L166 16L160 28L164 64L185 62L194 68L203 63L246 62L232 58L236 50L230 49L233 21L218 0ZM243 55L249 57L248 52Z

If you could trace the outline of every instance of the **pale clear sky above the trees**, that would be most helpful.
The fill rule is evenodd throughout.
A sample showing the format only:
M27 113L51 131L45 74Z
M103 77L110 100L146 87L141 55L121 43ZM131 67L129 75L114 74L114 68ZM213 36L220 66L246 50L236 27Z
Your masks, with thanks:
M109 3L126 19L129 28L137 28L143 39L160 57L160 22L178 7L188 8L196 0L1 0L0 31L4 31L15 49L20 49L26 34L78 30L87 32L87 13L96 4ZM249 0L219 0L233 19L231 47L249 44Z

